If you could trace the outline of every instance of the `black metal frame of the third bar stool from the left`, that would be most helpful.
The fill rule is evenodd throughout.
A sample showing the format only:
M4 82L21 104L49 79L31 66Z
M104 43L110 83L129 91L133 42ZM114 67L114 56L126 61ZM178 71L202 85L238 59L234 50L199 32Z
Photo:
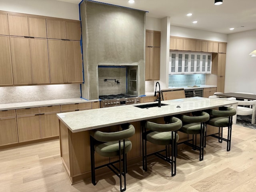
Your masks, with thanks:
M196 144L196 134L192 135L192 139L190 140L186 140L183 142L178 142L177 144L186 144L190 147L192 147L193 150L199 150L199 160L202 161L204 160L204 140L205 140L205 134L204 134L204 130L205 130L205 122L201 122L201 127L200 127L200 146L197 146ZM188 134L189 135L189 134ZM192 141L192 144L190 143L190 141Z

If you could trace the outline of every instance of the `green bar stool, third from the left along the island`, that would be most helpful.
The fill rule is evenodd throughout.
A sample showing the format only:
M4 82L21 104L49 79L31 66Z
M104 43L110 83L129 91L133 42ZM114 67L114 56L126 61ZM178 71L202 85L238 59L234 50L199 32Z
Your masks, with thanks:
M198 112L197 112L198 113ZM200 112L198 116L186 116L182 115L182 128L179 129L180 132L186 134L192 134L192 140L186 140L184 142L180 142L178 144L187 144L192 146L194 150L199 150L199 160L202 161L204 159L204 138L205 138L205 122L210 118L209 114L206 112ZM200 146L196 145L196 135L200 134ZM192 144L190 143L192 141Z

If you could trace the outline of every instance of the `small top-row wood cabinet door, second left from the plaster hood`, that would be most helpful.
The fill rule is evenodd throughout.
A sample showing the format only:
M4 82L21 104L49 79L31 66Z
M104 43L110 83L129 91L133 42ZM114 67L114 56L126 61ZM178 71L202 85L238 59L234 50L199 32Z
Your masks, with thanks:
M47 19L47 38L66 39L65 21Z

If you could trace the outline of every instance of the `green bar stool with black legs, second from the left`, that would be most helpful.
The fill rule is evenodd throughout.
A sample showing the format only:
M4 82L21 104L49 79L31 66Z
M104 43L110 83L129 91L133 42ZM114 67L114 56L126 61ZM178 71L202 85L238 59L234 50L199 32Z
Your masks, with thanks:
M172 166L172 176L176 175L176 152L179 136L177 130L181 128L182 122L176 117L169 119L169 124L157 124L154 122L142 122L142 162L143 170L147 171L147 156L156 155L170 163ZM147 154L147 141L156 145L166 146L164 150ZM171 154L170 154L171 146ZM165 156L161 154L165 152ZM170 158L171 156L171 158Z

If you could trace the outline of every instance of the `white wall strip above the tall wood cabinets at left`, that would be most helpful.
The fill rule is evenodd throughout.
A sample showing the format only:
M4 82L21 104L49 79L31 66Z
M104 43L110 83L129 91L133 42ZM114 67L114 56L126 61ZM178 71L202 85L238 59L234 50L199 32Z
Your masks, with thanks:
M79 20L78 4L55 0L0 0L0 10Z

